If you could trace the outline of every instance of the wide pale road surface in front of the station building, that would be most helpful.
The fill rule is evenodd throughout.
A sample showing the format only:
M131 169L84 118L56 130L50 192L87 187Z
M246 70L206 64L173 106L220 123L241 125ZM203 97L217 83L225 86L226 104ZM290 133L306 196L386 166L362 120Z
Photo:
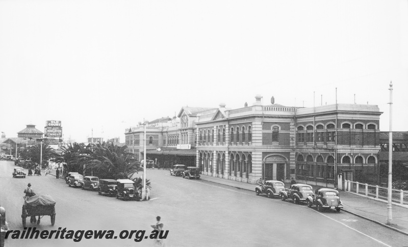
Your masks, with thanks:
M146 230L162 217L169 230L166 246L407 246L408 237L344 211L320 213L305 205L256 196L203 180L147 170L151 200L122 201L96 191L68 187L54 176L13 178L14 163L0 161L0 205L11 230L22 230L23 190L30 182L35 193L56 203L56 223L44 216L39 230ZM141 175L141 174L139 174ZM151 246L143 239L6 239L6 246Z

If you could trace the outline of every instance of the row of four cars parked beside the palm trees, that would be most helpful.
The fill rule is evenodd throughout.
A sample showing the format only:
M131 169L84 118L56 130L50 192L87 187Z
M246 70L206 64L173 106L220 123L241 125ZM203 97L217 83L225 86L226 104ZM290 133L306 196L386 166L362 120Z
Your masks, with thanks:
M135 182L130 179L99 179L95 176L82 176L76 172L68 173L65 178L68 186L82 189L97 190L99 195L115 196L122 200L138 200L141 198L135 188Z

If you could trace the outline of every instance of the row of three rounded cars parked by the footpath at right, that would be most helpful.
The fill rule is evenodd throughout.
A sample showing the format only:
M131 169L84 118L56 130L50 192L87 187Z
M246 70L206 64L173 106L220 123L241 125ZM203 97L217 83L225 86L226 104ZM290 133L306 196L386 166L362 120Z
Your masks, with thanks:
M307 203L308 207L316 206L318 211L336 209L340 212L343 208L339 191L333 188L319 188L313 193L313 187L309 184L295 183L285 188L282 181L267 180L255 187L255 193L269 198L279 197L282 201L289 200L295 204Z

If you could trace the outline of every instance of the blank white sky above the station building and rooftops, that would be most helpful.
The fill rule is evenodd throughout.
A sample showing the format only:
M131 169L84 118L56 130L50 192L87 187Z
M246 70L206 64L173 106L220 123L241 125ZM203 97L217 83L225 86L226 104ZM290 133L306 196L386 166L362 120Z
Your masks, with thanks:
M0 0L0 131L124 142L182 106L375 104L408 130L408 2ZM314 100L315 92L315 100ZM322 96L321 96L322 95ZM102 133L103 132L103 133Z

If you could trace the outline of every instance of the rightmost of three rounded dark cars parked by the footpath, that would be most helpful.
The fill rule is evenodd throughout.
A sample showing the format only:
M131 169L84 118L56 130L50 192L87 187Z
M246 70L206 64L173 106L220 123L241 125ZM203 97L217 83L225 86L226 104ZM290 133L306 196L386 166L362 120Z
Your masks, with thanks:
M343 208L343 203L340 201L339 191L332 188L319 188L315 193L307 198L308 207L316 205L317 210L323 211L323 209L336 209L340 212Z

